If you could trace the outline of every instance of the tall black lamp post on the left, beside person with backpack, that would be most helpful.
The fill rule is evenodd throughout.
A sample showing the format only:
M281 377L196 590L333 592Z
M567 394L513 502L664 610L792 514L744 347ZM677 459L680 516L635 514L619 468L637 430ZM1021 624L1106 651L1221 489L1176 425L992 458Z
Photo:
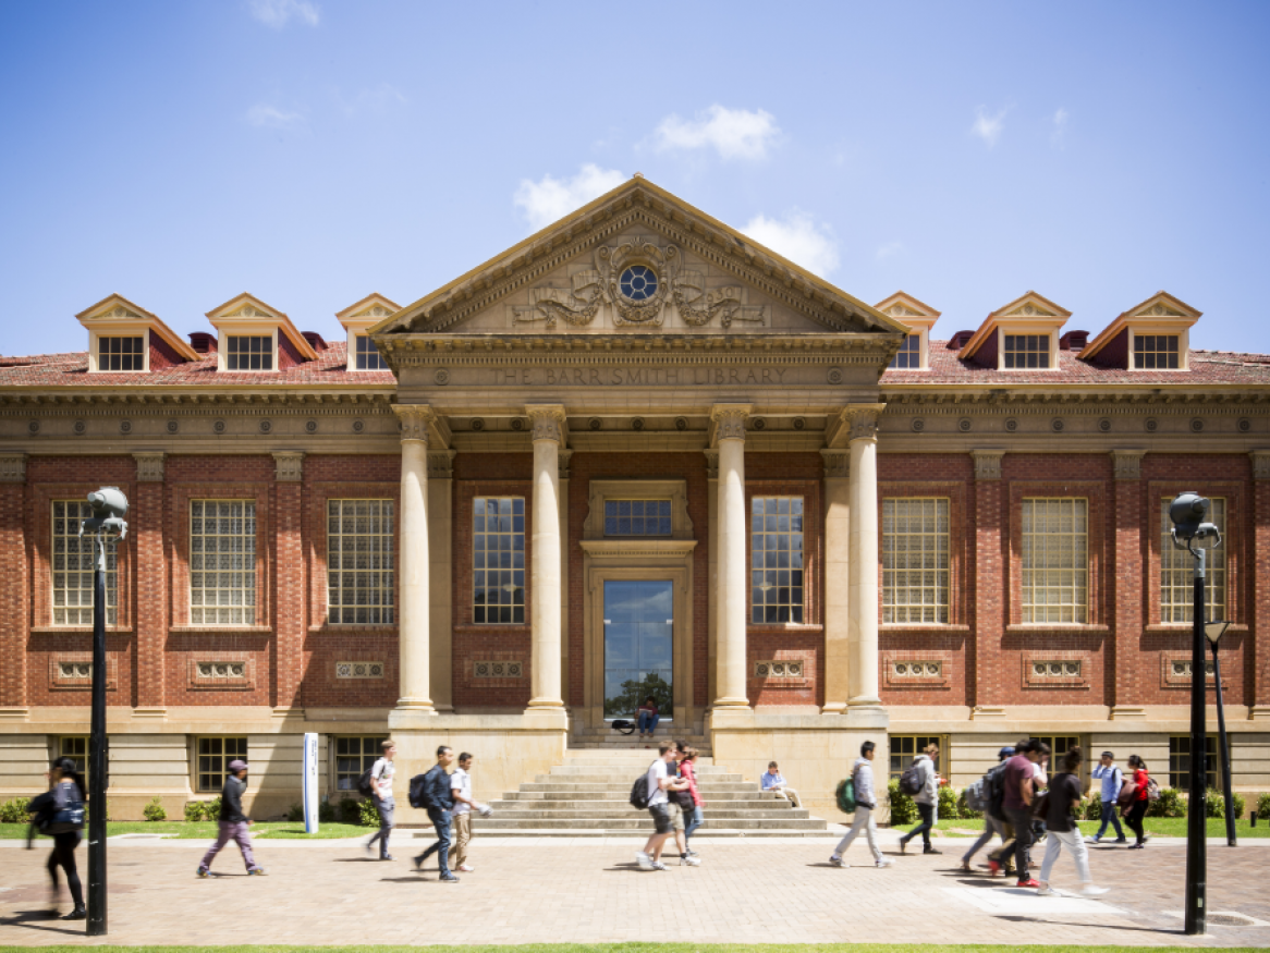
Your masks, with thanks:
M117 487L88 494L93 536L93 727L88 746L88 935L105 935L105 546L128 535L128 498Z

